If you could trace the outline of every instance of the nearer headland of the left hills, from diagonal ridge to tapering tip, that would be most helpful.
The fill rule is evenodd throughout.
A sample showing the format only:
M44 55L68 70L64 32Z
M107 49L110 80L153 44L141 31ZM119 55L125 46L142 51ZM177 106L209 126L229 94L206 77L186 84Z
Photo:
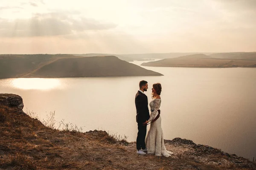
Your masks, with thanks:
M115 56L63 58L51 62L25 77L112 77L162 76Z

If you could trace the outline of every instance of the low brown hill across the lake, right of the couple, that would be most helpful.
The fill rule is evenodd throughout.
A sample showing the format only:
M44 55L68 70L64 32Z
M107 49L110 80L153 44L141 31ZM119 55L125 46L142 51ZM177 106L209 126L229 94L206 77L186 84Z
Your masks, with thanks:
M255 67L256 60L246 59L216 59L204 54L193 54L155 62L142 63L143 66L153 67L197 67L197 68L228 68Z

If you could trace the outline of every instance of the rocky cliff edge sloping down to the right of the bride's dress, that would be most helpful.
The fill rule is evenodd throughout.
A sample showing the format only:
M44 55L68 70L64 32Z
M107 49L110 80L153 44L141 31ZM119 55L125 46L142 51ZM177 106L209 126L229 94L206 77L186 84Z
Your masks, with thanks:
M172 140L164 140L166 146L172 146L174 156L180 159L190 159L197 163L207 164L220 167L221 169L246 168L248 170L255 169L256 165L241 156L229 154L220 149L210 147L203 144L195 144L191 140L175 138Z

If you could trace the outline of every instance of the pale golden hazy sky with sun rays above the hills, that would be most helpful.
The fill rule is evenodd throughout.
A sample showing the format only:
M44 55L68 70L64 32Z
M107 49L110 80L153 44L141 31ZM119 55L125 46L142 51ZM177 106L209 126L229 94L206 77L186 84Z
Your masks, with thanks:
M256 51L256 0L0 0L0 54Z

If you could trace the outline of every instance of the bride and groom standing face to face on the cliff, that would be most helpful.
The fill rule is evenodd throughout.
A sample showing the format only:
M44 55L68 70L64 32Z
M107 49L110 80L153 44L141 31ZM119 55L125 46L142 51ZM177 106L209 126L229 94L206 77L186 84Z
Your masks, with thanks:
M166 150L163 141L163 130L161 127L160 105L161 105L161 91L160 83L153 84L152 100L149 103L151 113L148 111L148 97L144 94L148 89L148 82L145 80L139 83L140 90L135 96L136 106L136 122L138 124L137 134L137 154L144 155L152 153L156 156L171 156L172 152ZM150 124L148 134L147 125Z

